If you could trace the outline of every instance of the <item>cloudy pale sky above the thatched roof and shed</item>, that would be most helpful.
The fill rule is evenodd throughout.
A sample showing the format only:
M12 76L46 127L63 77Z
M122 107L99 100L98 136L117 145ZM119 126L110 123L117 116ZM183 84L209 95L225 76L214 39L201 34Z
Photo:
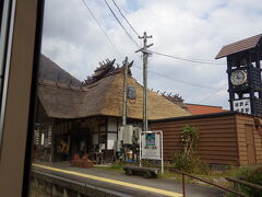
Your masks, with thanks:
M83 81L106 58L134 61L133 77L142 83L139 47L127 36L105 0L46 0L41 53ZM107 0L132 38L142 40ZM133 28L154 45L151 50L212 62L224 45L262 33L261 0L115 0ZM103 28L103 30L102 30ZM108 39L110 38L110 40ZM226 63L195 63L152 54L148 88L179 94L184 102L228 108Z

